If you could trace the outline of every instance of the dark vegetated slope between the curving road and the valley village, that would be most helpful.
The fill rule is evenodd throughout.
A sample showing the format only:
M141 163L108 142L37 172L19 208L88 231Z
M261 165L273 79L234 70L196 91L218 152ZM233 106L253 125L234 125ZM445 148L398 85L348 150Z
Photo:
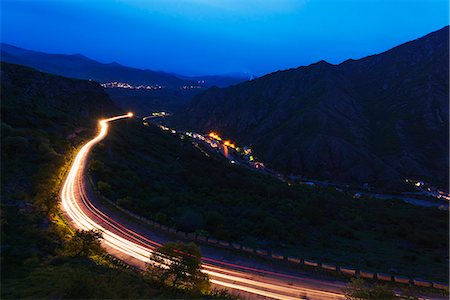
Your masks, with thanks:
M90 170L110 200L182 231L324 263L448 281L445 211L288 186L207 157L187 138L139 120L111 126L94 149Z

